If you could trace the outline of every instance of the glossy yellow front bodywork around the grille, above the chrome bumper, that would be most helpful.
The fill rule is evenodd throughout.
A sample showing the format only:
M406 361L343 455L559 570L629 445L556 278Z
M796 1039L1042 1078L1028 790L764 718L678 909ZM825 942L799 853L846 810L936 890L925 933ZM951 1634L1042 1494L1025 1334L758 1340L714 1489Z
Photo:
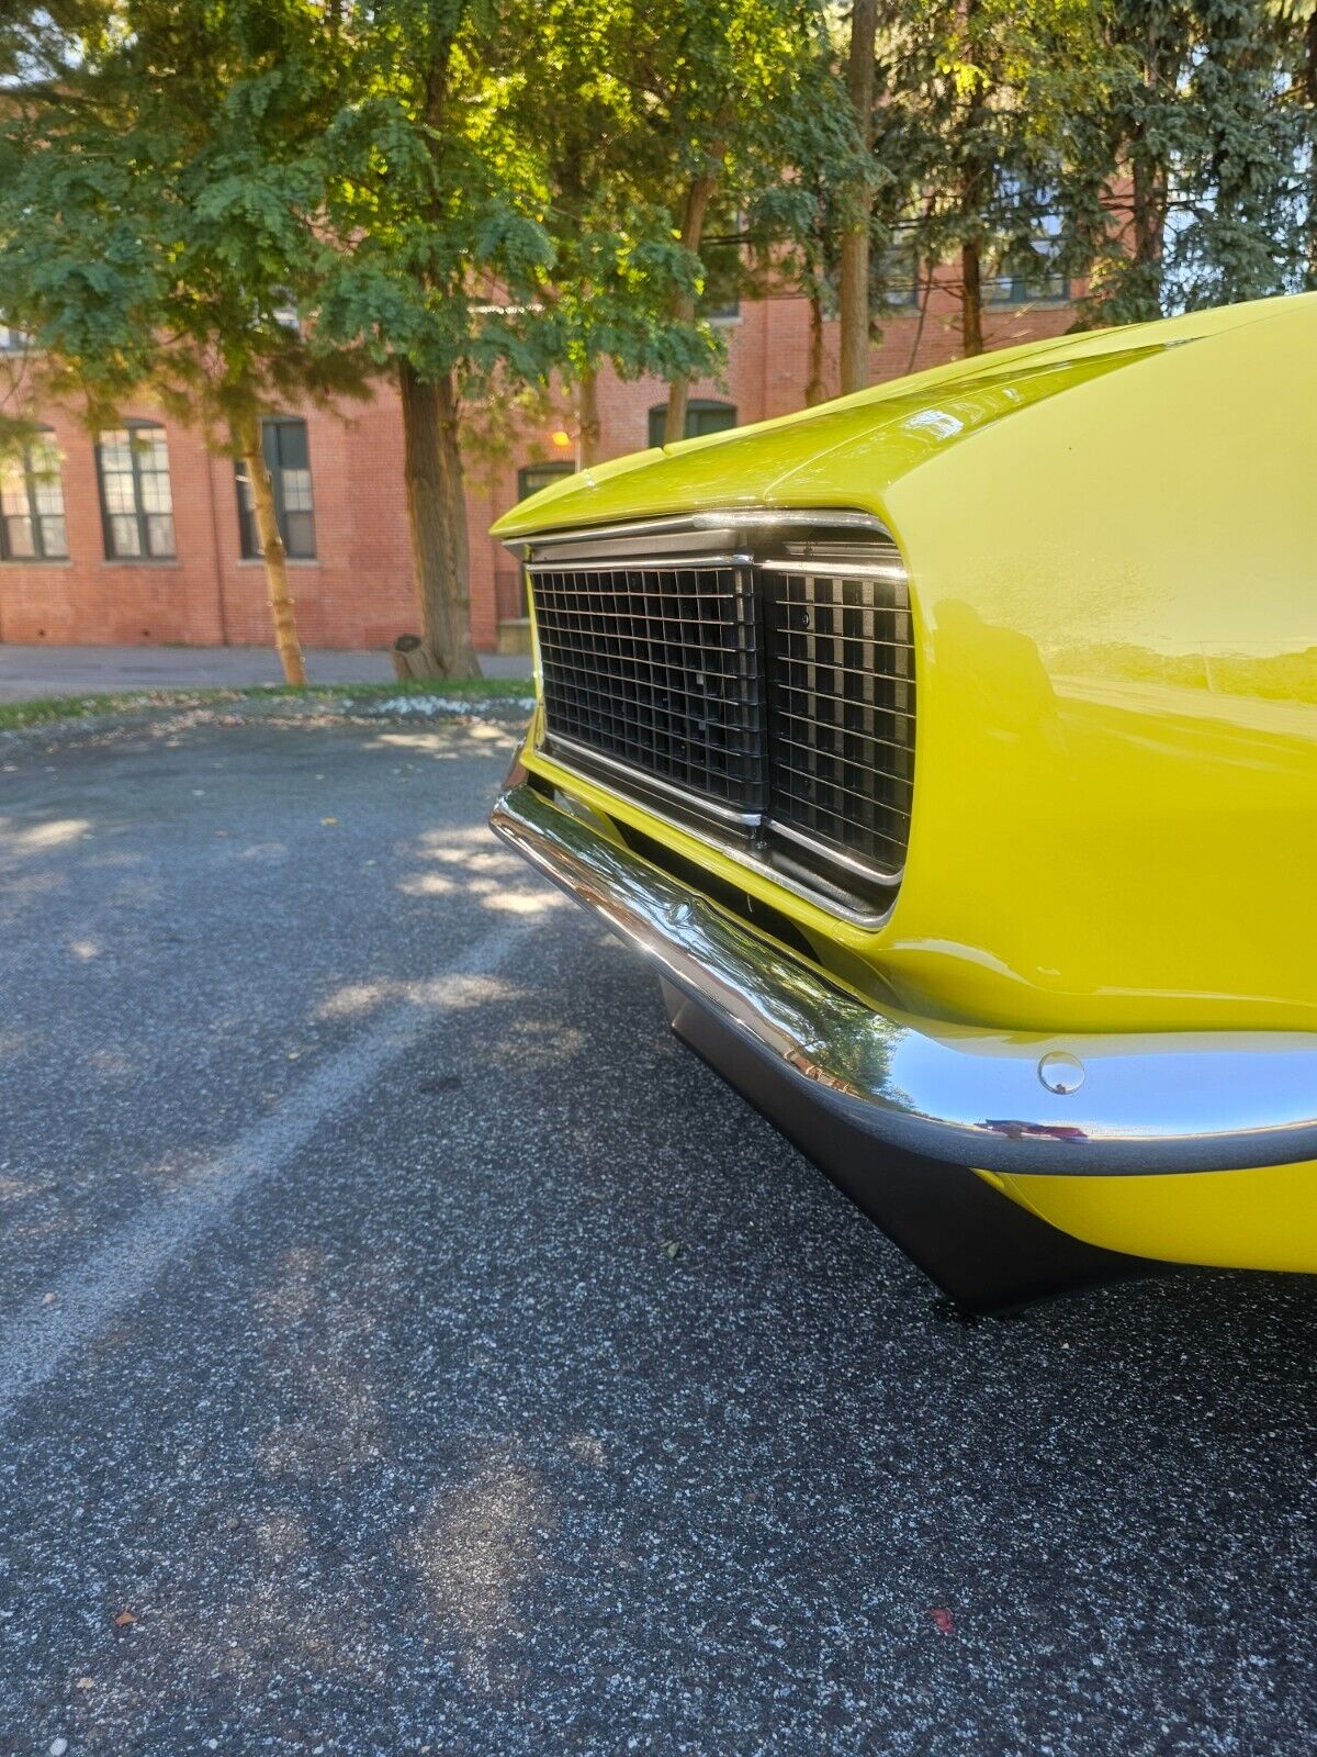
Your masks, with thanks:
M876 513L910 569L920 678L896 907L864 929L741 882L836 973L859 958L931 1017L1313 1030L1317 935L1294 931L1317 871L1313 457L1308 295L1013 350L644 453L495 529ZM534 747L527 761L553 768Z

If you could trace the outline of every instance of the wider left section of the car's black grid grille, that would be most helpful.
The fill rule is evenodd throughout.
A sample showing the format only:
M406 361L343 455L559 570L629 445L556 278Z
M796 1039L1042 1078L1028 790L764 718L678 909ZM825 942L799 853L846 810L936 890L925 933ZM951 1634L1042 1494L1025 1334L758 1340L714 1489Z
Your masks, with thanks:
M748 566L534 569L544 720L738 813L767 805L764 676Z

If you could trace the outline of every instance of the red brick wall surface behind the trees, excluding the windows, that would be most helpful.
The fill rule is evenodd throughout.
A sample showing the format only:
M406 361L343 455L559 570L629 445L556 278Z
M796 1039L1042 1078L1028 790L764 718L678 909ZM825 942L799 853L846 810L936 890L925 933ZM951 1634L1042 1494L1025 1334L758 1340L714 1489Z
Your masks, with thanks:
M1071 322L1068 306L1003 309L985 315L987 344L1010 346L1052 336ZM808 307L801 299L766 299L741 307L727 323L725 383L701 380L692 395L736 404L739 422L757 422L801 408L808 376ZM874 344L871 378L882 381L959 353L955 299L934 286L920 327L915 311L894 311ZM836 325L827 332L827 371L836 380ZM666 401L653 380L622 383L604 372L599 387L602 443L608 457L648 443L648 411ZM125 415L155 418L149 408ZM564 429L571 418L560 416ZM176 562L105 560L91 437L70 415L47 418L63 450L68 562L0 564L0 640L16 643L163 643L267 645L265 578L260 562L239 553L234 466L211 457L200 439L174 422L169 432L174 483ZM516 469L551 457L551 427L527 432L507 464L472 473L471 624L476 645L493 647L495 580L511 589L515 564L488 536L493 518L516 499ZM316 503L314 562L293 562L293 594L307 647L385 647L416 627L411 552L402 488L402 427L397 397L381 387L376 399L344 418L307 411Z

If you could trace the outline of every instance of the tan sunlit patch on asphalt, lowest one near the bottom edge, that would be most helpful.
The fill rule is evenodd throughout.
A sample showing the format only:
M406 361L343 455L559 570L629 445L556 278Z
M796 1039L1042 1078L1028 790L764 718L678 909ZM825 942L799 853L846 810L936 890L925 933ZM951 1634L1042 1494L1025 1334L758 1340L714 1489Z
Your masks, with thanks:
M472 1683L490 1685L495 1648L523 1630L518 1599L539 1578L553 1523L539 1474L490 1457L465 1485L441 1488L406 1539L435 1638L457 1643Z

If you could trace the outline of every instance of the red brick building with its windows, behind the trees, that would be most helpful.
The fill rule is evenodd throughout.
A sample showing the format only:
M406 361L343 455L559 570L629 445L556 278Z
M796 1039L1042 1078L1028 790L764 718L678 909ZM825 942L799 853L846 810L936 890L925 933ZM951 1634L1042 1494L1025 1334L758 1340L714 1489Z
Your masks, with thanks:
M1001 281L985 311L987 346L1064 330L1068 288L1027 299ZM759 422L801 408L808 376L808 307L773 297L718 320L727 332L722 383L692 387L692 430ZM0 351L16 337L0 327ZM827 337L836 374L836 325ZM959 353L950 285L936 285L920 318L892 306L873 348L871 380L938 365ZM599 390L606 457L650 443L666 388L604 374ZM569 418L525 432L493 480L472 476L472 633L499 641L520 615L516 569L488 536L507 506L572 467ZM132 429L132 437L128 434ZM342 418L290 409L267 423L267 455L290 546L293 590L307 647L386 647L416 627L402 487L397 395L381 383ZM0 641L269 645L265 578L232 459L212 457L190 429L148 404L125 411L116 432L91 436L61 409L26 471L0 480Z

